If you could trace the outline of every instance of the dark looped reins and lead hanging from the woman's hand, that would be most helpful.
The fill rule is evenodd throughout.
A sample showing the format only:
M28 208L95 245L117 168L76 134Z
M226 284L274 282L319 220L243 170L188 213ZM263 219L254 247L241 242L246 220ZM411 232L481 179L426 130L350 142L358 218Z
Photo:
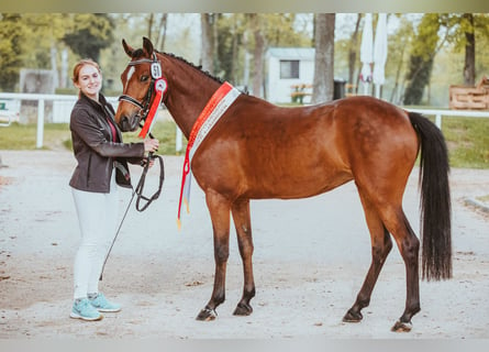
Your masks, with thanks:
M149 134L151 139L154 138L151 134L151 132L148 134ZM146 174L149 168L149 162L155 158L157 158L159 162L159 185L158 185L158 189L153 194L153 196L151 196L148 198L148 197L143 196L143 189L144 189L144 184L146 182ZM115 240L119 237L119 232L121 231L122 224L124 223L125 217L127 216L129 209L131 208L131 204L133 202L134 196L137 195L136 210L142 212L142 211L146 210L147 207L149 207L149 205L154 200L158 199L159 194L162 193L163 183L165 180L165 166L163 163L163 157L160 155L153 155L153 152L151 152L145 160L146 160L146 164L144 165L144 169L143 169L143 173L141 174L140 182L137 183L136 188L134 188L133 185L131 184L131 189L133 190L132 195L131 195L131 200L129 201L127 208L125 208L124 216L122 217L121 222L119 223L118 231L115 232L115 237L112 240L109 251L107 252L105 260L103 261L103 265L102 265L102 271L100 272L99 280L102 280L103 270L105 268L107 261L109 260L109 255L112 252L112 248L114 246ZM146 200L146 204L142 208L140 208L141 199Z

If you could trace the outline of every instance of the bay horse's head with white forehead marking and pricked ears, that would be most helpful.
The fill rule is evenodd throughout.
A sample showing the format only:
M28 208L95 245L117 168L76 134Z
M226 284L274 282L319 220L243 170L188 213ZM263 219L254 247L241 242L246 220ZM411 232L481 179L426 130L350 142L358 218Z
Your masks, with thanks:
M152 42L143 37L143 48L134 50L124 40L122 46L131 62L121 75L122 96L115 113L115 122L123 132L135 131L155 98L155 80L160 80L162 68ZM164 81L166 88L166 80ZM158 88L156 88L158 89Z

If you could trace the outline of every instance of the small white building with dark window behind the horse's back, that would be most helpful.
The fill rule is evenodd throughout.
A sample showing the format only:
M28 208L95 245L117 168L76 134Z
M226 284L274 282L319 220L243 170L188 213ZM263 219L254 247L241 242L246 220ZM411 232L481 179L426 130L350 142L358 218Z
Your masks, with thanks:
M270 47L266 54L266 99L274 103L291 102L292 86L312 86L314 77L313 47ZM305 88L311 94L312 89ZM303 102L311 101L304 96Z

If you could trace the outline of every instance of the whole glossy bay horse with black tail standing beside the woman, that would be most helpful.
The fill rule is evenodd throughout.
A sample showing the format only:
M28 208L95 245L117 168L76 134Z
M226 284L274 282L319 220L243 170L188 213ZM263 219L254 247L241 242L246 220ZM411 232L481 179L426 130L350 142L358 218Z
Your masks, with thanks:
M184 58L159 53L144 37L121 75L123 96L115 114L122 131L134 131L144 105L155 97L152 65L167 84L163 102L189 139L192 127L219 78ZM419 155L420 154L420 155ZM191 161L191 172L205 194L214 241L215 274L211 298L197 320L213 320L225 298L230 255L230 215L243 261L244 287L234 311L251 315L255 296L249 215L251 199L297 199L355 182L371 240L371 264L343 321L358 322L369 305L380 270L396 241L405 265L407 297L392 331L410 331L420 311L419 250L402 209L404 188L420 157L422 278L452 276L448 156L440 129L426 118L371 97L349 97L307 107L278 107L240 94L210 130Z

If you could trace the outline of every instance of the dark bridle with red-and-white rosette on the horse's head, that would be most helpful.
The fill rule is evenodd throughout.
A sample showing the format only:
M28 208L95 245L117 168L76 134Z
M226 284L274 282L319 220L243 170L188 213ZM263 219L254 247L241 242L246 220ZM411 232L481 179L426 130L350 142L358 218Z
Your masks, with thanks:
M149 84L149 89L146 92L146 97L144 97L143 101L140 102L131 96L122 95L119 97L119 101L121 100L127 101L141 109L140 112L137 112L137 116L140 116L140 121L143 120L145 121L145 123L140 133L140 136L145 138L147 132L151 130L153 125L153 118L156 113L156 110L158 109L159 105L163 101L163 96L165 95L168 85L166 79L163 78L162 65L156 58L155 53L153 53L153 59L151 58L137 59L134 62L130 62L127 66L136 66L140 64L151 64L152 81ZM155 98L153 99L153 102L151 103L153 91L156 91L156 95ZM141 112L143 112L142 116Z

